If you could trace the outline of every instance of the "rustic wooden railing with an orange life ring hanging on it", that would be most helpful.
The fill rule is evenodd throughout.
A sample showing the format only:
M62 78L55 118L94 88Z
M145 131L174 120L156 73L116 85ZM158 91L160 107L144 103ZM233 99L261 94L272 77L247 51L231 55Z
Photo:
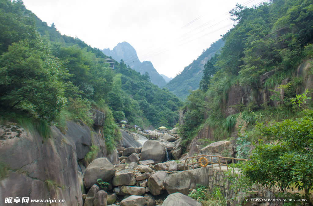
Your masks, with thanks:
M200 160L201 157L203 157L203 160L198 161L198 160L197 160L197 157L199 157L199 160ZM210 158L211 158L211 161L204 160L205 157L210 157ZM212 157L218 158L218 162L217 162L217 163L218 163L218 166L219 166L219 169L220 169L220 170L221 170L221 165L224 165L224 166L226 166L227 171L228 171L228 163L227 163L227 160L228 160L228 159L231 159L233 163L234 163L234 160L248 161L247 159L239 159L239 158L233 158L233 157L221 157L221 156L216 156L216 155L198 155L198 156L187 157L187 158L186 158L185 163L184 163L184 170L186 170L186 169L185 169L186 163L187 163L187 170L189 170L189 166L188 166L188 165L192 165L192 169L194 169L194 164L198 164L198 163L199 163L199 164L202 163L203 165L206 165L206 163L211 163L212 169L213 169L213 158L212 158ZM194 162L194 160L193 160L194 158L196 159L197 162ZM210 158L208 158L208 160L210 160ZM225 163L226 163L226 164L221 163L221 158L225 160ZM190 164L188 164L188 159L192 159ZM214 162L214 163L216 163L216 162ZM233 168L233 172L235 172L235 169L234 169L234 168Z

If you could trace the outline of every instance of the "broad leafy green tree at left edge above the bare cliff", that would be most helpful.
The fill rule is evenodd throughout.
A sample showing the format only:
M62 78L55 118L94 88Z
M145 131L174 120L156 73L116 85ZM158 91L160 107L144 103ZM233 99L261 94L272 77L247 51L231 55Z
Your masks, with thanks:
M54 121L66 102L63 80L68 77L39 37L13 43L0 57L1 107L35 112Z

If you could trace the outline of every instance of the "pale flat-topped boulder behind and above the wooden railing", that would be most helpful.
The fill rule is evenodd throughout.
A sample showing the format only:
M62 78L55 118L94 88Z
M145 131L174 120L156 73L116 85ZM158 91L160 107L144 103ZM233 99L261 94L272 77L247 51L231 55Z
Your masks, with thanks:
M231 156L231 157L234 156L233 145L231 142L226 141L226 140L219 141L219 142L213 142L213 143L209 144L208 146L201 149L201 153L203 155L222 156L221 152L223 150L228 150L229 156ZM221 158L221 162L225 162L225 160Z

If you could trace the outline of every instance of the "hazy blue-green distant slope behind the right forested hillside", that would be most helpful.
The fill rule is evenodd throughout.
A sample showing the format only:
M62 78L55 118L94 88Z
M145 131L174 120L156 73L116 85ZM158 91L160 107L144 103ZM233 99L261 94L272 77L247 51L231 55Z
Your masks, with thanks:
M184 68L182 73L178 74L169 81L163 88L167 88L170 92L176 95L181 100L185 100L189 95L189 90L199 88L200 80L203 76L204 64L214 56L221 47L224 46L224 41L219 39L211 44L196 60Z

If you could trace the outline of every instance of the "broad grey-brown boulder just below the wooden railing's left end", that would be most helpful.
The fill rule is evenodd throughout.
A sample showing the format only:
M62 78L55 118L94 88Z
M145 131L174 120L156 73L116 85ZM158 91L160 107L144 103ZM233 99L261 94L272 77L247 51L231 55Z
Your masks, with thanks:
M201 167L190 171L178 172L168 176L164 180L163 185L169 194L180 192L188 195L189 189L196 188L197 184L209 184L208 172L209 167Z

